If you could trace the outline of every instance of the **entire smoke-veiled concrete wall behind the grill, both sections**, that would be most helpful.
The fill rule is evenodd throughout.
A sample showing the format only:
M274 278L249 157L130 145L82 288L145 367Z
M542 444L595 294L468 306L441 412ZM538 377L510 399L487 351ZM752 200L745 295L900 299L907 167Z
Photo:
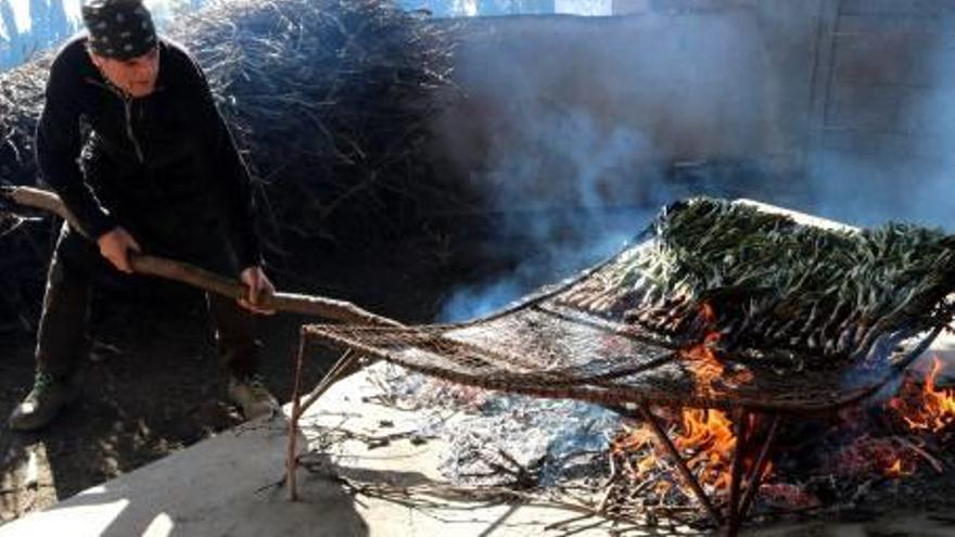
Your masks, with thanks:
M860 223L918 216L955 183L955 0L614 10L629 15L460 23L467 99L436 122L443 174L552 204L581 203L584 176L640 203L680 163L747 163L718 181Z

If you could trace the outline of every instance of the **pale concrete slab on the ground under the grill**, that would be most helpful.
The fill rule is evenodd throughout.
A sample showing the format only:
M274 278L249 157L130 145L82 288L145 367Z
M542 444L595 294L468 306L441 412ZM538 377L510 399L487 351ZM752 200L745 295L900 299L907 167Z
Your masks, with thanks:
M955 337L942 338L937 350L952 363ZM436 468L447 445L422 437L413 412L369 402L381 388L360 372L334 386L303 419L301 444L314 455L307 458L310 470L298 474L300 501L275 486L282 477L288 427L285 418L277 417L0 526L0 537L608 535L607 521L569 506L509 504L495 490L462 495L442 484ZM941 536L955 535L953 524L939 513L894 512L867 524L779 525L746 534ZM626 535L661 529L698 534L629 527Z

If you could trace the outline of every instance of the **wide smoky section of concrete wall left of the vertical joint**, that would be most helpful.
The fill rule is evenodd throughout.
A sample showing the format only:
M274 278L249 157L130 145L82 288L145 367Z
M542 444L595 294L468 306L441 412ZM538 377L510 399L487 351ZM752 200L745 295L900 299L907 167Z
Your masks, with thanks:
M674 163L798 176L822 4L655 0L631 16L458 21L466 99L436 120L435 162L558 205L589 203L582 180L613 203L646 202L659 187L648 177Z

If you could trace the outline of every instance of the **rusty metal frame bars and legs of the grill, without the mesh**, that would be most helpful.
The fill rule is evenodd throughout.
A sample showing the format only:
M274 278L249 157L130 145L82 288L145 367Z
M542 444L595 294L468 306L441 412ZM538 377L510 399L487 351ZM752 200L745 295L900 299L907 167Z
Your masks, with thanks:
M743 201L742 203L753 202ZM824 227L842 227L836 222L816 219L807 215L793 214L786 209L763 204L759 205L769 210L788 213L798 219L807 219L810 220L808 223L822 225ZM639 245L632 248L635 247L639 247ZM785 396L778 397L780 395L778 393L768 394L771 397L767 398L759 398L741 396L733 389L722 394L709 393L702 395L687 395L686 393L667 394L663 392L640 394L633 389L627 391L621 388L621 386L612 385L612 383L601 382L601 375L599 374L593 375L588 382L584 383L569 381L562 383L561 376L553 374L553 371L514 372L513 368L510 368L510 371L499 370L498 372L504 374L498 375L468 375L453 371L448 367L429 367L421 360L416 362L408 358L407 353L397 353L390 346L382 344L382 342L386 342L394 346L395 343L403 344L404 342L406 350L407 348L417 348L418 351L431 353L438 358L442 354L440 351L435 353L435 348L463 348L476 356L475 360L481 360L485 363L492 363L494 360L517 363L521 361L519 356L502 353L500 349L489 348L486 343L469 341L468 337L461 334L467 334L468 331L474 331L482 327L492 327L497 322L506 322L508 319L525 315L527 311L537 311L555 318L562 317L563 320L560 322L570 323L571 325L580 327L586 324L591 330L603 331L606 334L609 334L609 337L629 337L648 346L655 346L661 351L659 356L649 357L647 361L631 367L632 369L640 370L641 373L653 371L654 368L662 368L667 363L682 359L677 342L667 341L658 334L640 332L633 325L615 322L612 319L603 319L580 309L566 308L566 306L559 304L561 293L566 292L587 278L594 277L614 260L626 255L632 248L620 252L617 255L582 272L575 278L553 286L542 287L538 292L532 293L519 303L498 312L463 323L420 327L404 327L397 322L391 325L303 325L300 334L300 350L295 362L295 382L291 398L293 407L290 419L286 461L286 483L290 485L292 499L297 497L295 469L297 468L296 437L300 418L329 386L360 369L362 367L360 363L361 357L369 357L372 360L383 359L430 376L456 383L534 397L572 398L604 406L623 415L642 419L650 425L659 442L676 463L680 477L693 491L700 506L717 525L726 528L728 535L736 535L759 494L762 475L768 462L768 455L772 451L778 429L786 420L798 420L805 415L831 414L841 408L860 404L903 374L908 366L921 356L941 332L941 329L935 329L930 333L917 334L917 336L908 338L903 347L893 348L888 354L882 353L881 358L887 358L883 361L886 367L869 371L855 371L858 375L856 382L850 387L843 385L843 379L845 379L846 374L853 373L853 363L842 363L840 365L842 367L829 372L829 374L825 372L816 376L810 374L808 383L824 384L822 391L814 394L816 397L813 398L803 397L800 399L795 397L795 400L788 401ZM389 341L389 338L391 340ZM307 354L308 343L316 341L326 345L343 346L346 350L326 378L302 401L300 396L303 361ZM420 348L421 345L416 342L424 342L430 348ZM524 361L526 362L526 360ZM855 366L858 365L856 363ZM620 373L620 370L616 372ZM614 378L613 372L608 371L606 373L602 381ZM784 382L784 387L785 384ZM795 392L798 391L799 388L795 389ZM819 394L824 395L819 396ZM714 408L733 412L737 443L733 455L734 462L727 504L717 506L713 499L708 497L699 481L689 470L687 461L684 460L653 413L652 408L654 406ZM762 435L763 442L755 444L754 439L760 436L756 430L759 427L764 427L766 431ZM747 459L755 461L749 471L746 471L743 468L743 460Z

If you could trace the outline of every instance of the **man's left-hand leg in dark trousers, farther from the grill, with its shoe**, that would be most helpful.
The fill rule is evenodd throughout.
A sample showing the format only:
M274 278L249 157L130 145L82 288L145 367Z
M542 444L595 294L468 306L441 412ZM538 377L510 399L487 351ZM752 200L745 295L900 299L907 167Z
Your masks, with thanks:
M66 226L60 233L47 273L43 311L37 333L34 387L13 409L11 429L40 429L73 398L73 376L87 350L91 283L89 267L84 266L81 257L91 255L91 246L84 241ZM94 263L94 259L89 261Z

